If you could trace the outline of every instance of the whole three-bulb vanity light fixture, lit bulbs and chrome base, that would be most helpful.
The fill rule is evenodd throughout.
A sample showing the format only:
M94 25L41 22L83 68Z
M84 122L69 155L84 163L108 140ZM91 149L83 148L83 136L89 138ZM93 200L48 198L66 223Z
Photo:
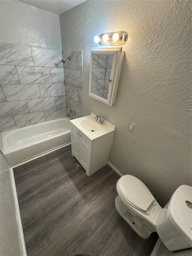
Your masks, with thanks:
M122 45L127 41L128 34L124 31L104 33L94 37L94 42L100 45Z

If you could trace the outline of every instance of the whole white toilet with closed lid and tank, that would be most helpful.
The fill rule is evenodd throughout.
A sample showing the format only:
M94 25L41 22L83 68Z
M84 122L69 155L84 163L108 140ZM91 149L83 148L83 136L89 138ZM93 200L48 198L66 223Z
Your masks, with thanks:
M115 206L142 238L157 232L170 251L192 247L192 187L182 185L162 208L138 178L124 175L117 182Z

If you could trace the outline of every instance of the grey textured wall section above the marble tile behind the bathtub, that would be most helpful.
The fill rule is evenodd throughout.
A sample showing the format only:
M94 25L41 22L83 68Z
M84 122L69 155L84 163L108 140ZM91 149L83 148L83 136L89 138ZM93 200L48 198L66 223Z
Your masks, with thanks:
M20 2L0 1L0 41L61 51L59 15Z

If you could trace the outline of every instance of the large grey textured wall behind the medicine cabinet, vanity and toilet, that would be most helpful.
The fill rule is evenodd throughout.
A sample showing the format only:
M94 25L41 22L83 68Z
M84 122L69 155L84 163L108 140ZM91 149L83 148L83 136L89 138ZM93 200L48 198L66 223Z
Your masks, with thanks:
M162 206L191 184L190 10L191 1L86 1L60 16L62 49L83 50L83 115L117 126L109 161ZM129 37L111 107L88 96L90 48L99 46L95 35L123 30Z

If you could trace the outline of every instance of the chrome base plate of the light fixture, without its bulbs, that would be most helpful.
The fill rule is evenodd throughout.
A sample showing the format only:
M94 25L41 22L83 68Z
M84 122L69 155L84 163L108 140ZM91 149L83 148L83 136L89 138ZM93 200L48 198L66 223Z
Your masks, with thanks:
M114 34L118 34L119 35L119 39L117 41L113 41L113 35ZM103 41L103 36L104 35L108 35L109 36L109 40L107 42ZM122 45L127 41L128 38L128 34L125 31L119 31L119 32L112 32L112 33L104 33L101 34L100 36L100 41L99 44L100 45L104 45L104 46L118 46L118 45Z

